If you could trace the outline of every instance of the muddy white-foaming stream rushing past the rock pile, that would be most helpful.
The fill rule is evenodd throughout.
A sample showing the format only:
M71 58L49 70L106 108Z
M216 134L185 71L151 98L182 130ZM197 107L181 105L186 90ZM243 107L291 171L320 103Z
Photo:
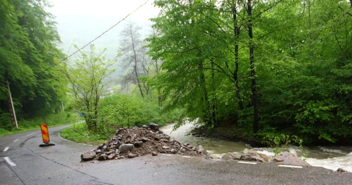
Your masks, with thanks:
M195 137L189 134L196 126L194 123L188 123L181 126L179 129L172 131L174 124L169 124L161 127L165 134L172 136L175 140L181 143L190 143L193 146L202 145L209 154L214 157L222 157L227 152L232 152L237 155L242 155L248 151L263 153L270 159L275 154L273 148L253 148L243 142L225 141L214 138ZM296 146L289 146L290 152L296 156L301 156L301 149ZM316 146L305 147L307 160L312 166L320 166L332 170L343 168L352 172L352 147L350 146Z

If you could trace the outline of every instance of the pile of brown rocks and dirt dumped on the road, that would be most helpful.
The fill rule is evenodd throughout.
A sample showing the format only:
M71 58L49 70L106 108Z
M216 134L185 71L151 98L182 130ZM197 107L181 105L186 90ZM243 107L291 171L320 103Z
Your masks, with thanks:
M160 131L157 124L150 123L141 128L119 129L97 149L82 154L81 160L123 159L147 154L155 156L157 153L209 156L202 146L196 148L187 143L181 144Z

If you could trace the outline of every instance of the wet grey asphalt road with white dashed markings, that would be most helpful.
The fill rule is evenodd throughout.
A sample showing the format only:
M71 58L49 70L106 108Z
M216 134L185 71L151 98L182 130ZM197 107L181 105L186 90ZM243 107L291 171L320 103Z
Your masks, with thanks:
M352 173L321 167L179 155L80 162L80 154L94 147L61 139L58 134L65 127L49 128L56 144L50 147L39 147L39 130L0 137L0 184L352 184Z

